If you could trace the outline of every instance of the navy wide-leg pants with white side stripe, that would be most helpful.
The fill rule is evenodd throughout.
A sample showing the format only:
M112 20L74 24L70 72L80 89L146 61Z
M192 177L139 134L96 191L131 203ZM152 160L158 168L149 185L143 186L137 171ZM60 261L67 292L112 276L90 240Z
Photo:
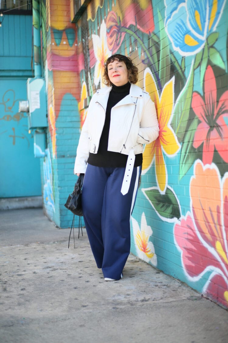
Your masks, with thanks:
M87 165L82 209L90 246L104 277L119 280L130 253L130 217L142 167L134 167L130 188L120 192L125 168Z

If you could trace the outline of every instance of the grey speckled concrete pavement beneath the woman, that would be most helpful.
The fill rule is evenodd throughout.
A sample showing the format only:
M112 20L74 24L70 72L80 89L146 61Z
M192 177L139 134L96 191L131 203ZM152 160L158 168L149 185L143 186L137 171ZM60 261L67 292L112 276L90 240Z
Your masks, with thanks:
M228 311L130 255L105 282L88 238L42 209L0 211L0 342L228 342Z

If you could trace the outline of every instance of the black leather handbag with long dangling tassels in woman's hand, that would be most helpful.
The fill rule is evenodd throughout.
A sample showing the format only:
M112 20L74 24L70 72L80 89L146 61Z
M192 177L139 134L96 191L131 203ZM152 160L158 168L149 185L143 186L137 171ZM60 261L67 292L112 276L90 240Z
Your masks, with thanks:
M75 246L75 234L74 234L74 228L75 228L75 215L79 216L79 224L78 224L78 238L80 234L80 223L81 223L81 232L82 232L82 220L81 217L83 216L82 212L82 185L83 185L83 180L84 180L84 175L85 174L80 174L78 177L78 180L75 184L75 187L73 189L73 192L69 194L69 197L67 198L67 201L65 203L65 207L70 210L73 213L73 220L71 224L71 229L70 229L70 235L71 231L73 228L73 243ZM83 233L82 233L83 236ZM70 244L70 236L69 236L69 242L68 242L68 248Z

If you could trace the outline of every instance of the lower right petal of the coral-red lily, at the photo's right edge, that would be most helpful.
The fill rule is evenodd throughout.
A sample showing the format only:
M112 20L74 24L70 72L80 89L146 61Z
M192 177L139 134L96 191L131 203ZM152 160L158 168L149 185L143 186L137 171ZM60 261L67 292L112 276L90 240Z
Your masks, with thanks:
M213 130L213 133L214 132L216 133L216 137L214 140L216 150L218 151L219 155L223 158L223 160L226 163L228 163L228 151L227 151L227 147L228 147L228 126L226 125L224 117L228 117L228 114L226 114L224 116L220 116L217 120L217 125L219 126L219 128L221 130L222 137L220 137L220 135L218 134L216 129Z

